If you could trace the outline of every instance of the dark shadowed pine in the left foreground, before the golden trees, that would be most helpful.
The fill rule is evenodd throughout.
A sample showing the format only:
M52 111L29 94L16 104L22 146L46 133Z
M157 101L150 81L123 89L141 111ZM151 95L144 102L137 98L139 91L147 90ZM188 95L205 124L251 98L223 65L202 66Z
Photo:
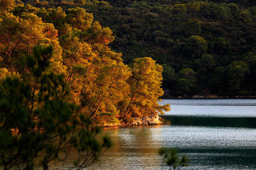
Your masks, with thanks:
M68 102L63 75L48 73L52 47L37 46L26 57L20 78L7 77L0 83L0 167L4 169L48 169L63 160L70 150L77 153L76 167L97 160L108 137L79 108ZM73 151L73 152L74 152Z

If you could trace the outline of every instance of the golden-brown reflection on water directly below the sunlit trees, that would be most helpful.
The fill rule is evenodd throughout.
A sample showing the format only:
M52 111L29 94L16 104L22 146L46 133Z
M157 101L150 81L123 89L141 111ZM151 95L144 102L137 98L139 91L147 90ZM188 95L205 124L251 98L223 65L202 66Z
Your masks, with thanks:
M159 126L109 129L114 146L89 169L160 169Z

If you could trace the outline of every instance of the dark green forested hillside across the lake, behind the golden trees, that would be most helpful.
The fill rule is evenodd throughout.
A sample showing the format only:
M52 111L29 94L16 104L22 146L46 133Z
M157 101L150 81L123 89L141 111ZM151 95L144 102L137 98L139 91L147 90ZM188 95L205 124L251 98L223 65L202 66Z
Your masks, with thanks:
M80 6L109 27L126 64L152 57L170 96L256 95L255 1L36 1Z

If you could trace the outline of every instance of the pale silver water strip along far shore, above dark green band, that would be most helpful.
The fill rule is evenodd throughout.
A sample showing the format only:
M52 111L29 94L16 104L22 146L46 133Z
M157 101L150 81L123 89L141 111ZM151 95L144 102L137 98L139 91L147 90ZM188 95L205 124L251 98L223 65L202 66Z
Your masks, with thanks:
M165 115L196 117L256 117L256 99L164 99Z

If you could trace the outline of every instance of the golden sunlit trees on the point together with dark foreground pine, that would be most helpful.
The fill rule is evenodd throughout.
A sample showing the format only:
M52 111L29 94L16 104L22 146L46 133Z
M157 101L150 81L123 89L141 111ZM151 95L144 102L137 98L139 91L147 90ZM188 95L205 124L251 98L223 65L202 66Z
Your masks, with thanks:
M99 125L161 124L156 60L125 64L84 8L26 3L0 0L0 169L49 169L71 150L68 169L83 169L112 145Z

